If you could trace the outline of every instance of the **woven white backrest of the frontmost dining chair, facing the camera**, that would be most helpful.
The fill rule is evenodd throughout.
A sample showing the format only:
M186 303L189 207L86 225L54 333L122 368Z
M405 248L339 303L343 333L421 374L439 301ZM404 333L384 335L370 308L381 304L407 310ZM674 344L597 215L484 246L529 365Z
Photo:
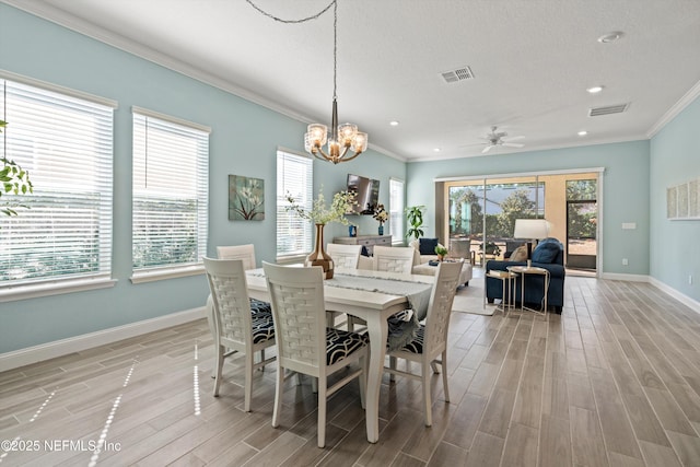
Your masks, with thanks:
M326 310L320 267L262 262L280 366L319 377L326 365Z

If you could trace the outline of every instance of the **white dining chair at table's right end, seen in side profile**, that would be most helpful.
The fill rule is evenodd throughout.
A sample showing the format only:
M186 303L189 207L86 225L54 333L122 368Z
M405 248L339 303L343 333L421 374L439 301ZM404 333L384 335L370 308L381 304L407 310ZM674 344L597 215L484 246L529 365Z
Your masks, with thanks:
M425 427L432 425L432 402L430 395L430 369L438 372L438 366L442 366L442 384L445 400L450 401L450 389L447 387L447 331L450 330L450 317L452 302L455 297L460 262L441 262L438 266L438 273L430 294L428 304L428 316L425 324L420 325L416 338L399 350L388 351L389 367L384 370L394 375L402 375L421 381L423 386L423 409L425 413ZM420 374L400 371L396 369L396 360L405 359L420 364Z

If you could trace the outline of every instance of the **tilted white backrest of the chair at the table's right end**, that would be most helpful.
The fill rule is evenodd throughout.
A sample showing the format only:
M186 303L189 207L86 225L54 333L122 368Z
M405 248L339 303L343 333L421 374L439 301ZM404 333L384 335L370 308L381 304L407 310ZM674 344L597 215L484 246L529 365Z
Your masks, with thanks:
M443 261L438 266L425 319L423 352L428 354L428 358L440 354L447 347L450 316L459 283L462 266L460 261Z

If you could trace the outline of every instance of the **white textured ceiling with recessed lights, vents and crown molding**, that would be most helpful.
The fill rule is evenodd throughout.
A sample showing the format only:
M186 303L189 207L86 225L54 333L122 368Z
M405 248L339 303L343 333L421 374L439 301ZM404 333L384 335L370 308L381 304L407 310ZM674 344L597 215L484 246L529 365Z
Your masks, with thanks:
M282 24L245 0L3 1L329 124L332 8ZM290 20L330 2L253 1ZM623 37L597 42L614 31ZM475 79L443 80L464 66ZM586 93L596 84L602 93ZM489 155L648 139L699 94L698 0L338 0L339 119L401 160L481 155L492 125L525 147ZM622 114L588 117L626 103Z

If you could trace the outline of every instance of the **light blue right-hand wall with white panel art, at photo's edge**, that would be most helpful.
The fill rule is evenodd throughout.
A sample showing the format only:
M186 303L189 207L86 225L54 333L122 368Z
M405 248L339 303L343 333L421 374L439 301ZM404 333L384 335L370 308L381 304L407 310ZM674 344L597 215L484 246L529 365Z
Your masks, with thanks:
M651 275L700 301L700 220L666 219L666 188L700 178L700 98L651 140ZM692 284L688 277L692 276Z

